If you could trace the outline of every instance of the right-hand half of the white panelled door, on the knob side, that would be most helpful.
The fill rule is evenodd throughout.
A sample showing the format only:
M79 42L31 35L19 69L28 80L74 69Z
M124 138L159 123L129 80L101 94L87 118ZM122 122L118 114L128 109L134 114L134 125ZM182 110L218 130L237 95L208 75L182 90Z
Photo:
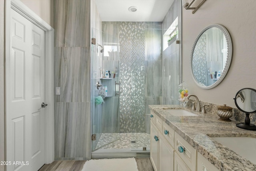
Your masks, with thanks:
M31 117L32 117L32 163L38 170L45 161L45 109L44 100L44 31L32 24L32 76L31 76Z

